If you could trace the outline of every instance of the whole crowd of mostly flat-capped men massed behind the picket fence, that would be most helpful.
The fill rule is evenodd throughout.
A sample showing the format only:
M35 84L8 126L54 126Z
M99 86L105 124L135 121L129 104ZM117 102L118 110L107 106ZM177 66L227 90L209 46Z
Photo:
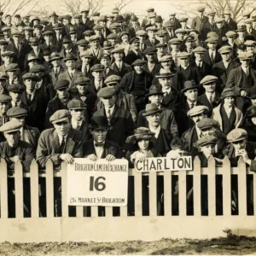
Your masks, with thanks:
M206 167L228 156L256 171L256 17L197 11L191 27L154 8L142 22L119 9L47 20L1 12L1 159L29 172L33 159L40 169L76 157L133 167L191 155Z

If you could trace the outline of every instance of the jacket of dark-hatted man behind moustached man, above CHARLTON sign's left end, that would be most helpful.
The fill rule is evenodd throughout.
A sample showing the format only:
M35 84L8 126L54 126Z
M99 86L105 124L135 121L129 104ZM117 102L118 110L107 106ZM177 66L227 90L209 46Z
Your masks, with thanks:
M178 137L177 131L177 122L174 116L174 113L171 109L161 108L160 112L160 126L165 130L169 135L172 134L172 137ZM148 120L143 116L145 110L142 110L138 114L137 118L137 127L148 127Z

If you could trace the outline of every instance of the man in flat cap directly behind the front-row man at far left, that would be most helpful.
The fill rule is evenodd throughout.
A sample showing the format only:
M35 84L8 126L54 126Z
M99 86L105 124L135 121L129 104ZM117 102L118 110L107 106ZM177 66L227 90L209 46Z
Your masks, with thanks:
M20 140L29 143L34 150L37 150L40 131L36 127L26 125L27 114L27 110L20 107L9 108L7 112L7 116L10 120L14 119L21 124Z

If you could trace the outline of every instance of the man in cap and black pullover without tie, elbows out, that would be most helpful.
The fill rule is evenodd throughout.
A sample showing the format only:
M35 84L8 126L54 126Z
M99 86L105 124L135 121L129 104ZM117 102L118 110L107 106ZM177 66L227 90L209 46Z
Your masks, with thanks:
M125 92L135 97L137 112L145 108L147 103L145 95L153 80L152 75L144 70L145 63L146 61L143 60L134 61L131 64L134 71L126 73L119 84L121 90L125 90Z

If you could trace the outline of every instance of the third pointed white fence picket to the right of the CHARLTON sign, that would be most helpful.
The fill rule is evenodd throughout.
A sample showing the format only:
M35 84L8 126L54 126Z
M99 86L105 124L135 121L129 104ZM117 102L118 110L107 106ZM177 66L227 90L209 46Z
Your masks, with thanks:
M223 172L223 215L224 216L231 216L231 167L230 167L230 160L226 155L224 157L224 162L222 169Z

